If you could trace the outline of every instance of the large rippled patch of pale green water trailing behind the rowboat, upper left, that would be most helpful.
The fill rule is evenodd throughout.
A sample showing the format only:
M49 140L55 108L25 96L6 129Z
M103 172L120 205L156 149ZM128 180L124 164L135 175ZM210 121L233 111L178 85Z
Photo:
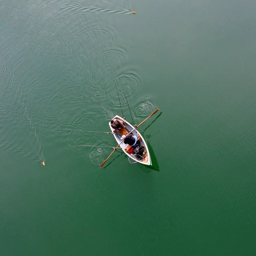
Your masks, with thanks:
M127 11L36 1L27 4L26 12L18 8L10 12L12 33L4 30L0 42L4 87L0 107L6 121L1 126L6 135L0 143L7 151L35 160L44 158L39 137L58 131L74 150L88 152L93 163L104 160L105 148L74 146L94 142L111 145L113 137L75 130L108 131L107 123L102 127L99 117L103 112L109 120L119 111L116 87L125 102L124 91L130 98L140 78L125 64L127 49L113 46L115 26L106 24L103 15L96 12ZM13 129L7 132L9 127Z

